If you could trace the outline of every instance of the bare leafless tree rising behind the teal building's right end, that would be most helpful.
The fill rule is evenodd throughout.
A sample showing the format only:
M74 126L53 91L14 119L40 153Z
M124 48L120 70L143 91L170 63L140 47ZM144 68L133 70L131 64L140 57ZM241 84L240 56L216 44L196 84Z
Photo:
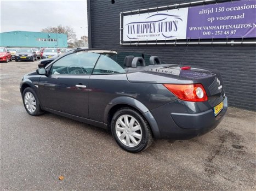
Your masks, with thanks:
M43 33L62 33L67 35L67 41L75 40L76 33L72 27L69 26L56 26L56 27L46 27L41 30Z

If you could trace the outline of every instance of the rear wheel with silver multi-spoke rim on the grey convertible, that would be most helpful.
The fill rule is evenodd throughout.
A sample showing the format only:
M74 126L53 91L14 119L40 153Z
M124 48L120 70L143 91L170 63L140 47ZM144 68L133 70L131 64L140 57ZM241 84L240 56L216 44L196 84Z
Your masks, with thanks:
M128 152L140 152L153 142L149 123L143 115L131 108L117 110L111 120L111 132L117 144Z

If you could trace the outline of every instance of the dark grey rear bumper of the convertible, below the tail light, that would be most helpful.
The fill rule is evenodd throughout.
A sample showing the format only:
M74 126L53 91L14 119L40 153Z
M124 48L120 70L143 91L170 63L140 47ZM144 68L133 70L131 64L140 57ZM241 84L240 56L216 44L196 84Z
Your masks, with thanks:
M156 138L191 139L203 135L217 127L227 111L227 97L223 100L223 109L216 117L213 109L196 114L169 112L173 104L175 103L166 104L151 111L160 131Z

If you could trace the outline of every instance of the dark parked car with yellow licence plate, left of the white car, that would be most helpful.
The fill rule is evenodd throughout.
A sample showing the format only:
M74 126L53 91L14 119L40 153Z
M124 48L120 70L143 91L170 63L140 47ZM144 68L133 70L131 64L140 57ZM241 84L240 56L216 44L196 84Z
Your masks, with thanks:
M15 61L36 61L37 55L36 52L33 51L31 48L21 48L18 49L15 54Z

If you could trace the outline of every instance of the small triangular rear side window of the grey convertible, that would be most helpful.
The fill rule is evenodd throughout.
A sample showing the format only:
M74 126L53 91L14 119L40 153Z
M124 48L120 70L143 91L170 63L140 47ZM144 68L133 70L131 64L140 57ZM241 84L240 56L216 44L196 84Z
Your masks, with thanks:
M126 71L113 59L100 55L98 62L95 65L93 74L114 74L114 73L126 73Z

